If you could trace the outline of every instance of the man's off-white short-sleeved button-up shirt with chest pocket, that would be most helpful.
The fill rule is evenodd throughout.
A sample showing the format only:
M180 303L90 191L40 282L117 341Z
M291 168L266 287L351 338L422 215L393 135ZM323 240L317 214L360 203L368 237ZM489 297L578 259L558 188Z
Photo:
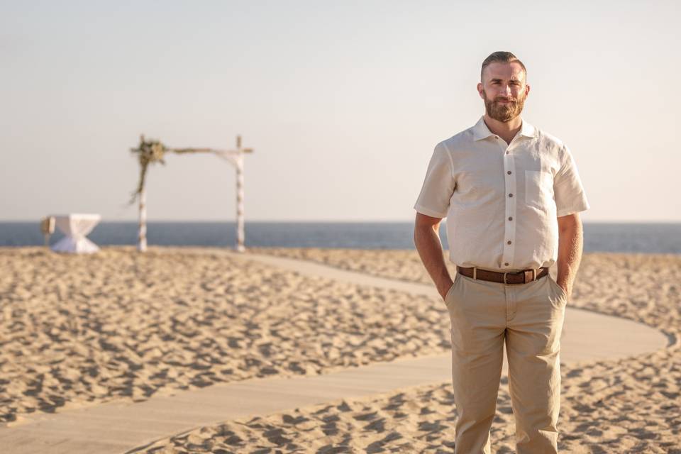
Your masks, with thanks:
M589 209L570 150L522 120L507 144L484 116L436 145L414 209L447 218L450 260L516 271L558 260L558 217Z

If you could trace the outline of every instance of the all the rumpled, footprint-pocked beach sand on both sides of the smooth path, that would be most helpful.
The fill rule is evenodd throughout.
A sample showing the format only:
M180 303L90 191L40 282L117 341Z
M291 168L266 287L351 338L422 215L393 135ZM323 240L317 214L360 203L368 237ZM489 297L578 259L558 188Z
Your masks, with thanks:
M252 251L430 282L416 251ZM442 301L210 250L4 248L0 300L3 423L250 377L445 353L450 342ZM563 365L559 448L681 453L681 256L586 254L570 305L653 326L669 345L626 360ZM451 452L455 419L451 384L443 383L228 421L140 452ZM513 452L512 421L502 382L494 452Z

